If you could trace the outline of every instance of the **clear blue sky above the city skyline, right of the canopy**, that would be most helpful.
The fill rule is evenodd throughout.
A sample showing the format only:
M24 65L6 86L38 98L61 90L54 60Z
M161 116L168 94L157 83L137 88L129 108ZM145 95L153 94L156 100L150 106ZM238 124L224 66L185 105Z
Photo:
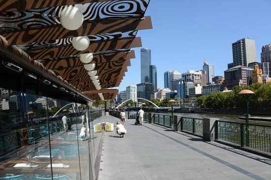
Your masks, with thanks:
M257 61L263 45L271 43L271 0L151 0L145 16L153 29L140 30L142 47L151 49L158 88L164 88L164 72L201 70L203 60L223 75L233 62L232 43L249 37L256 42ZM142 48L140 47L140 48ZM120 84L140 83L140 48Z

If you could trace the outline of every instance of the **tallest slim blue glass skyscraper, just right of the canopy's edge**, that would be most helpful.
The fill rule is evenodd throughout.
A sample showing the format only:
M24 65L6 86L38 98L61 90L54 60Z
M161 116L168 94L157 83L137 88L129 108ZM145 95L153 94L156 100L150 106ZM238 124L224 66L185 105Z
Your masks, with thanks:
M150 82L151 50L140 49L141 83Z

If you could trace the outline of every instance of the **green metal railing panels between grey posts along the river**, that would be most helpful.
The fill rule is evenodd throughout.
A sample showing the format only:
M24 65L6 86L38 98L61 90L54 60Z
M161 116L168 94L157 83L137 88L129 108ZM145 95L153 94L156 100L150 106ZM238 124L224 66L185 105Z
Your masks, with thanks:
M136 118L136 113L131 114L130 119ZM153 123L172 127L173 118L164 114L144 114L144 120L151 120ZM178 131L183 131L203 137L203 119L181 117L178 121ZM215 140L224 143L234 144L250 150L271 153L271 126L245 124L230 121L215 121Z

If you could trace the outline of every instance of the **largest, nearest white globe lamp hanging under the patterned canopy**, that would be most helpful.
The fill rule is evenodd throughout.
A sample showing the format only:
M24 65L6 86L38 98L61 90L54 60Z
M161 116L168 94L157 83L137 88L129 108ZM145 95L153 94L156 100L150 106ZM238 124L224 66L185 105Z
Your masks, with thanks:
M83 24L83 13L77 7L65 7L60 13L60 23L67 30L77 30Z

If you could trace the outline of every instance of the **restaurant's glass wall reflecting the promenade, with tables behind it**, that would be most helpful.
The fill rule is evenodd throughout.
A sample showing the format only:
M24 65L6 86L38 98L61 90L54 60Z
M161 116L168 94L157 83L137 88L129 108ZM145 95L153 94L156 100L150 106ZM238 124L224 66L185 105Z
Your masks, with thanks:
M91 127L100 111L31 90L1 91L8 93L0 95L0 179L95 179L102 135Z

